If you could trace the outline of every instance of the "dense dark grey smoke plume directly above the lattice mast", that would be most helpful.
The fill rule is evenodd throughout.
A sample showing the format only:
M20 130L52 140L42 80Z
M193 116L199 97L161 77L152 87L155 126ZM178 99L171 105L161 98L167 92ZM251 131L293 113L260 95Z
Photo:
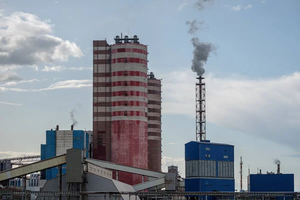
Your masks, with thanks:
M191 70L200 76L205 72L203 65L206 63L210 52L215 51L215 46L209 42L199 41L198 37L191 38L191 43L194 47Z

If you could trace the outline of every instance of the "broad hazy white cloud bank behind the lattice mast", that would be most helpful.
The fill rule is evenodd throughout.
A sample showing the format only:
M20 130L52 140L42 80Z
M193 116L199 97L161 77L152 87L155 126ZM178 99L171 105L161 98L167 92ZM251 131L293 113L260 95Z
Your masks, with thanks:
M300 149L300 72L272 79L205 76L207 121ZM188 70L162 77L163 114L194 118L196 75Z

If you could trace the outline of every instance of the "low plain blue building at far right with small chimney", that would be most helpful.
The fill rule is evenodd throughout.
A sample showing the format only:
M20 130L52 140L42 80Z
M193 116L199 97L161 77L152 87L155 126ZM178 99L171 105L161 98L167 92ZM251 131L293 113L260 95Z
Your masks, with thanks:
M248 192L294 192L294 174L249 174L247 181ZM289 198L293 199L293 196L286 196L285 200Z

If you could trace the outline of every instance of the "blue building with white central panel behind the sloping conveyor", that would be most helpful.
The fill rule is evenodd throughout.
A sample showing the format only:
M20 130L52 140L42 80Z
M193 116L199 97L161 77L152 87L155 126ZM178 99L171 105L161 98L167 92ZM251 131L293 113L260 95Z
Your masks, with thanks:
M71 136L70 136L71 135ZM84 150L85 157L89 157L89 134L84 130L47 130L46 143L40 145L40 159L47 159L66 153L66 149L79 148ZM62 165L65 174L65 165ZM51 179L58 175L58 167L41 171L41 178Z

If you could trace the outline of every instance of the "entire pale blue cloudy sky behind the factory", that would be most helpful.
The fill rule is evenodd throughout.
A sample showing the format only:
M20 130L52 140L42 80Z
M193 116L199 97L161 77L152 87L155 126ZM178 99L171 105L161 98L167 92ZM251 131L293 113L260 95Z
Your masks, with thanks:
M203 62L206 139L234 145L235 188L242 156L243 189L248 167L276 171L277 158L300 190L300 0L202 1L0 0L0 157L38 154L72 109L75 129L92 129L92 40L122 32L148 45L162 78L162 170L184 177L197 37L215 47Z

